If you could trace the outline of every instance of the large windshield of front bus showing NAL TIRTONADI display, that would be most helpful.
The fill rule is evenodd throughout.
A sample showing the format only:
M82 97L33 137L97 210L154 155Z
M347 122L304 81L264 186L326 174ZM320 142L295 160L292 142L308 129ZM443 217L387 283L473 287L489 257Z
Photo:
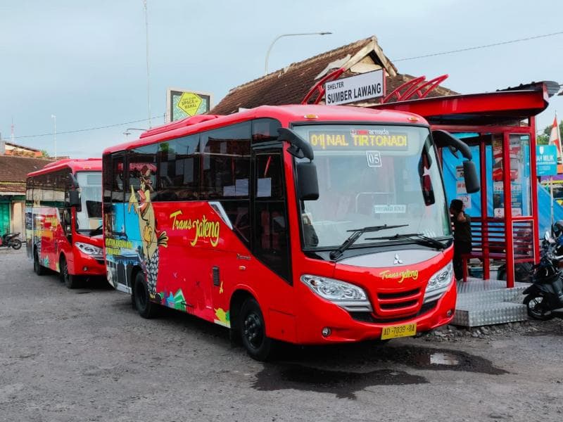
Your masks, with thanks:
M376 236L451 236L440 164L427 127L316 124L293 130L315 151L319 181L319 198L302 203L305 249L337 248L351 231L385 224L402 226L383 235L363 234L354 247L388 243L369 240Z

